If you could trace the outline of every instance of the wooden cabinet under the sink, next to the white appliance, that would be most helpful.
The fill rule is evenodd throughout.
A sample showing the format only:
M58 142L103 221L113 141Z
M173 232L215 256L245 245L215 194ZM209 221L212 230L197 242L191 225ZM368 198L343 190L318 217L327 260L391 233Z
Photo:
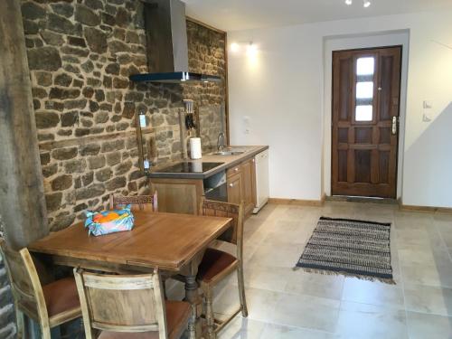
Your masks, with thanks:
M254 159L245 160L240 165L231 167L228 169L227 177L228 201L232 203L245 202L245 214L250 214L256 204Z

